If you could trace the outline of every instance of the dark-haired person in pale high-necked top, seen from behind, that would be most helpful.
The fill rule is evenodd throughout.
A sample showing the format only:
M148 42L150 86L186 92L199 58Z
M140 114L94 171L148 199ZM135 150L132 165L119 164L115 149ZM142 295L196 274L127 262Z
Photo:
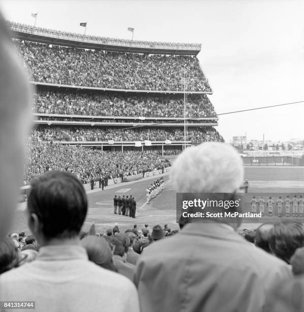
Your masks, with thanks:
M88 261L80 246L86 213L84 188L70 173L51 171L32 181L27 222L41 248L35 261L0 276L0 301L31 298L42 312L138 311L132 282Z

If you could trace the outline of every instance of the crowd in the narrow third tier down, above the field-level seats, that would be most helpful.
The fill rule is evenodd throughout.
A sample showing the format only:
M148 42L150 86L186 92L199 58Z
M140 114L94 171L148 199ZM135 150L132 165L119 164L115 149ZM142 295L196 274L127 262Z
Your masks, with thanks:
M171 127L145 128L135 127L119 129L115 127L92 126L46 126L33 129L32 141L183 141L184 128ZM214 127L188 127L187 141L223 141Z

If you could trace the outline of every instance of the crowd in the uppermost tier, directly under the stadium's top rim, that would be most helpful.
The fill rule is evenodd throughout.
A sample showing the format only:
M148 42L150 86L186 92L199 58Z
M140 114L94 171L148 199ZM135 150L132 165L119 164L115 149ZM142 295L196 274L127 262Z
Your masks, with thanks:
M31 80L129 90L211 91L193 56L144 55L15 41Z

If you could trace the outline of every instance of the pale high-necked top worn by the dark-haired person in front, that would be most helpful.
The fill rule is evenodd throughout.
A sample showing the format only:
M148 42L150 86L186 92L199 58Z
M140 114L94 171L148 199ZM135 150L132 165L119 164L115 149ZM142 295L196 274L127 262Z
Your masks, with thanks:
M35 301L37 312L139 311L134 284L88 261L81 246L42 247L35 261L0 275L0 301Z

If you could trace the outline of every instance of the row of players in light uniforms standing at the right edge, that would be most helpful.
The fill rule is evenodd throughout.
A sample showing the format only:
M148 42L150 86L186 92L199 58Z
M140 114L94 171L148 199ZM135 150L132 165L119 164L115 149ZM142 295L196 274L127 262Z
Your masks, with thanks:
M262 217L264 216L264 207L265 203L268 210L268 216L272 217L272 211L273 211L273 204L275 204L275 201L269 196L269 199L265 201L263 196L259 200L253 196L253 199L251 200L251 210L253 213L257 213L257 205L259 205L259 210L262 213ZM282 217L282 210L283 205L285 205L285 212L286 217L289 217L290 214L290 208L292 206L292 215L293 217L303 217L303 211L304 211L304 198L302 198L302 195L300 195L299 198L294 195L292 199L289 198L289 195L285 197L285 199L282 199L282 196L280 196L276 201L277 207L278 207L278 216Z

